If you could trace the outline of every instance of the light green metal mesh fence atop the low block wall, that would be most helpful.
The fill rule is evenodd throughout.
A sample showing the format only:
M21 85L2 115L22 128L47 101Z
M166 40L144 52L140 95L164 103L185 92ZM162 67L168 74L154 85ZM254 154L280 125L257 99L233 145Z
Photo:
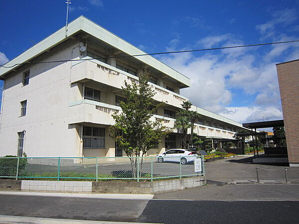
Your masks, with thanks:
M203 156L163 156L162 158L163 160L158 161L155 156L0 157L0 178L153 181L204 175Z

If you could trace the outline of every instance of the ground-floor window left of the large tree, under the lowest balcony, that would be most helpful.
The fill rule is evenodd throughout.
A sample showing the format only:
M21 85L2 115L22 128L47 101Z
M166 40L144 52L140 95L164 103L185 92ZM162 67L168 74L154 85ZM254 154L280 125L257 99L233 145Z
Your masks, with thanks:
M83 148L104 148L105 128L83 126Z

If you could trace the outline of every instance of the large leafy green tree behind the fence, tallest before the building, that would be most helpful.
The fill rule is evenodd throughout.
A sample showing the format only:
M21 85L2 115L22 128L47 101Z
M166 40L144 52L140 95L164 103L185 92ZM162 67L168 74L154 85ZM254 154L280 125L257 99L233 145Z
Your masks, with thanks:
M125 87L122 87L122 90L127 102L120 102L122 112L112 115L115 124L109 127L110 136L130 157L134 178L137 177L137 157L141 157L141 173L143 157L147 151L159 144L161 139L171 131L171 128L163 126L160 121L150 119L156 107L151 106L155 92L148 81L147 69L139 74L138 82L128 84L125 81ZM135 158L132 158L134 156Z

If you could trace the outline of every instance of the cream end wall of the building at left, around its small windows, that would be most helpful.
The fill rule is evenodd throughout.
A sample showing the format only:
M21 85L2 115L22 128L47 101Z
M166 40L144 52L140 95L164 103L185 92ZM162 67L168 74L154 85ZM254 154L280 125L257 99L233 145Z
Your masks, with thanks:
M44 61L76 57L73 44ZM79 156L74 146L77 129L69 126L70 62L30 67L29 84L22 85L24 71L5 80L0 130L0 156L17 154L17 132L25 130L23 151L27 156ZM26 115L20 102L27 100Z

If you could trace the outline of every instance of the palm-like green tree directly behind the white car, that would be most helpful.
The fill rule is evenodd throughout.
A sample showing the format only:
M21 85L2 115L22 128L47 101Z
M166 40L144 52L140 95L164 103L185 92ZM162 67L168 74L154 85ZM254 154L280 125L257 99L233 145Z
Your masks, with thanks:
M198 118L200 115L195 111L190 111L192 106L190 101L184 101L181 104L181 106L183 109L179 109L179 111L176 113L177 118L174 124L174 128L176 128L178 131L182 133L182 148L188 148L188 128L191 129L191 134L189 137L189 143L191 143L193 137L194 123L196 118Z

